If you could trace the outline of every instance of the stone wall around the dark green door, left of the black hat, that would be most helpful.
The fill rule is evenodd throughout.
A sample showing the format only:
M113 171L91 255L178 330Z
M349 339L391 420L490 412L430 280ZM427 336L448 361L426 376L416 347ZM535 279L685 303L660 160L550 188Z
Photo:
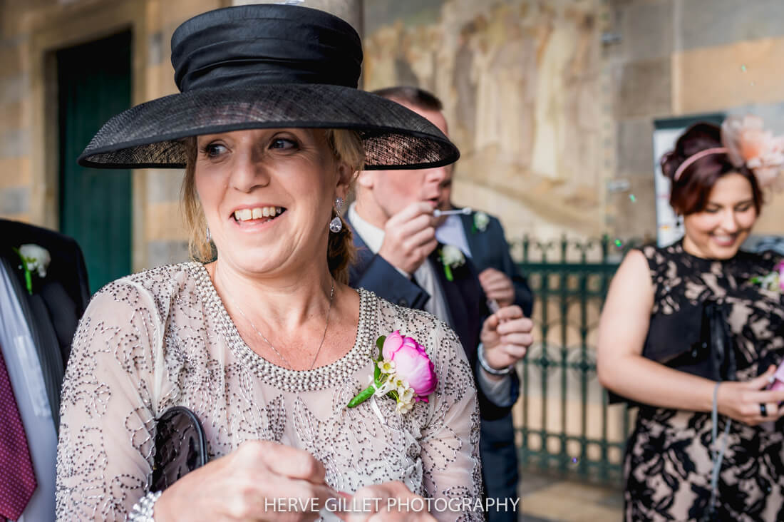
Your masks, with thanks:
M241 3L249 2L234 2ZM169 45L175 28L227 5L231 0L0 2L0 217L58 228L56 50L131 27L132 100L139 104L177 92ZM342 14L361 30L358 0L308 5ZM134 171L134 270L187 259L181 181L182 170Z

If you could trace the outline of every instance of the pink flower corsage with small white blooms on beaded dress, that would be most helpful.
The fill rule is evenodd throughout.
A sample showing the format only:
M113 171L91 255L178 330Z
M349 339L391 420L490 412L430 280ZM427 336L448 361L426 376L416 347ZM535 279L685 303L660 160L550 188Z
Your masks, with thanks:
M430 357L416 340L403 337L399 330L376 339L378 359L373 367L370 385L350 400L348 407L364 403L372 396L387 396L397 402L395 410L405 413L427 396L438 384L435 367Z

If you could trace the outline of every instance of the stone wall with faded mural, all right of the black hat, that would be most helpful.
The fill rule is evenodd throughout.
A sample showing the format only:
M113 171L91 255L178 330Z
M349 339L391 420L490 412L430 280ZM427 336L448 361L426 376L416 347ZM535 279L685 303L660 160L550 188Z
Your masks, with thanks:
M445 101L463 153L456 203L499 214L510 239L653 238L655 120L753 111L784 131L782 9L776 0L368 2L366 85L415 82ZM784 232L781 203L764 209L758 233Z

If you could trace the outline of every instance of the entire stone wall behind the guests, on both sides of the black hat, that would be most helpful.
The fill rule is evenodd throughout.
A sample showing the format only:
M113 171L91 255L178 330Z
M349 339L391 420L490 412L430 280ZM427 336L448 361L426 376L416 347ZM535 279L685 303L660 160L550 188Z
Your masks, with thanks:
M54 51L131 27L132 97L140 103L176 92L169 61L175 27L232 3L247 2L0 2L0 216L58 228ZM369 88L413 80L445 98L463 151L456 202L499 214L509 239L524 233L543 239L655 236L655 119L753 111L784 132L779 0L307 0L305 5L345 16L365 32ZM558 42L553 35L568 42L572 54L558 56L561 44L555 43L548 51L548 42ZM505 45L510 38L530 44L532 52ZM471 51L474 59L487 58L484 53L495 46L498 64L461 72L459 49L469 43L481 50ZM517 68L515 60L528 60L520 66L525 75L509 74ZM562 169L550 169L533 150L536 122L550 117L529 96L543 63L550 75L569 73L558 77L554 88L562 90L547 97L546 105L566 115L559 117L561 130L578 132L563 149L540 140L546 145L540 159L554 158ZM466 86L479 89L480 82L485 97L469 97L474 105L466 111ZM548 85L537 82L540 89ZM514 86L523 89L520 100ZM498 104L489 103L487 89L494 88ZM474 117L491 113L493 121L500 115L506 123L494 128L480 122L477 132ZM518 141L530 146L517 146ZM169 170L133 173L135 270L186 257L180 178ZM757 232L784 232L784 196L764 208Z

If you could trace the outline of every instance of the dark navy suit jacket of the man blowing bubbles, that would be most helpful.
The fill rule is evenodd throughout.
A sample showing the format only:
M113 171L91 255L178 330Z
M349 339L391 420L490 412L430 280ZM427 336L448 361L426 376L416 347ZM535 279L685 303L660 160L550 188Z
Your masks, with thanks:
M351 287L371 290L379 297L396 305L424 310L430 294L427 294L411 279L403 276L383 257L373 254L356 232L354 232L354 246L358 251L357 259L350 267L349 284ZM437 249L433 254L430 254L430 261L434 262L436 267L441 266L440 261L437 260ZM444 293L444 301L451 319L448 322L449 326L455 330L463 345L471 368L477 371L477 345L479 344L482 323L488 316L488 311L485 305L485 293L477 279L474 265L466 259L466 265L454 273L453 281L446 279L443 270L436 269L434 272L436 284L441 287ZM475 374L474 378L476 378ZM509 414L512 404L517 401L519 395L517 375L513 374L513 379L509 402L503 406L489 400L481 391L481 387L477 385L481 418L493 420Z

